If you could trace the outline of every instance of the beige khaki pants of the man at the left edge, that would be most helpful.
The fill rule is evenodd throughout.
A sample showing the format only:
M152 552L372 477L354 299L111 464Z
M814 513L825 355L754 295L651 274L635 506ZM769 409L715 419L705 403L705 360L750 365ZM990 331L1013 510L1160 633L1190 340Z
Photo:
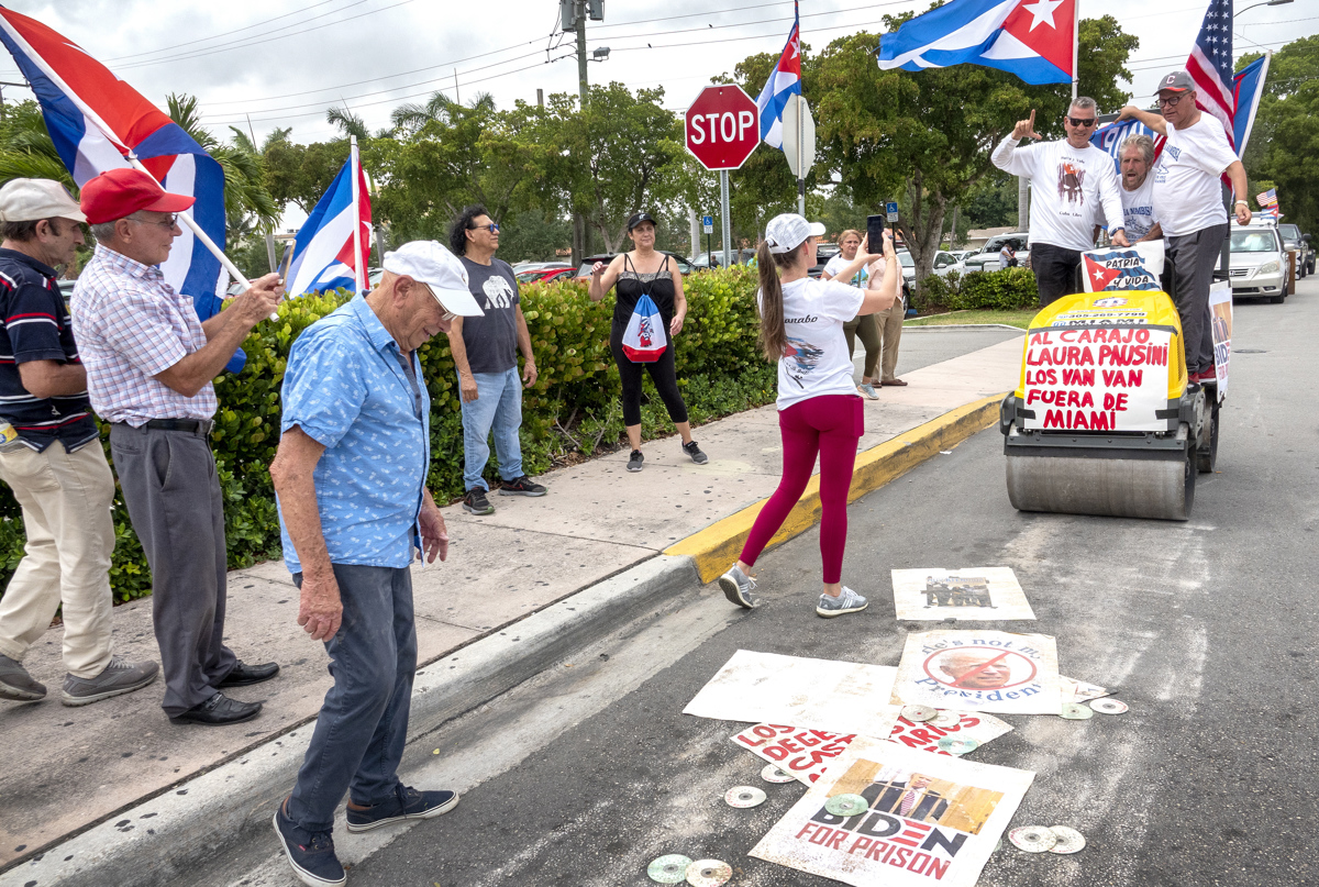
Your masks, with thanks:
M0 598L0 653L21 660L63 605L65 668L96 677L109 664L109 556L115 478L100 441L74 453L0 453L0 479L22 506L28 544Z

